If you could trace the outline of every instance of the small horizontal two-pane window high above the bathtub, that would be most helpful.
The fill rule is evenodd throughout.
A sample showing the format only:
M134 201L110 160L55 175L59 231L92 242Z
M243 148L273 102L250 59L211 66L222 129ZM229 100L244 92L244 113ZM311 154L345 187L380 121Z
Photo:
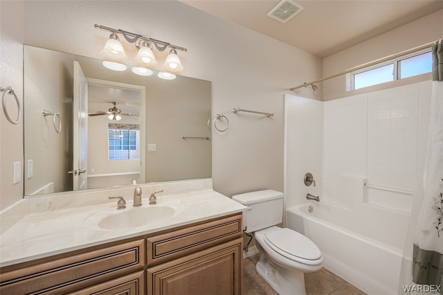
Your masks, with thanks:
M431 73L432 55L430 49L401 56L381 64L351 73L352 89L361 89L394 80Z

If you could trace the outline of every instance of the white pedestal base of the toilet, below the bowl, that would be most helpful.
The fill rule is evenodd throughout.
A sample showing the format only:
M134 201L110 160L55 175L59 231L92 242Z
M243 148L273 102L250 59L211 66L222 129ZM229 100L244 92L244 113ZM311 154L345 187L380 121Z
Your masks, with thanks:
M257 273L280 295L306 295L305 274L275 265L260 253Z

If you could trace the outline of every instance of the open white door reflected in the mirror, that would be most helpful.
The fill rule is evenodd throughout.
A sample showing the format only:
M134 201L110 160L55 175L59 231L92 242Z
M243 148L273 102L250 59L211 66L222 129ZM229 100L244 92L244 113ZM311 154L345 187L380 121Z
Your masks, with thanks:
M88 81L78 62L74 62L73 98L73 190L88 188Z

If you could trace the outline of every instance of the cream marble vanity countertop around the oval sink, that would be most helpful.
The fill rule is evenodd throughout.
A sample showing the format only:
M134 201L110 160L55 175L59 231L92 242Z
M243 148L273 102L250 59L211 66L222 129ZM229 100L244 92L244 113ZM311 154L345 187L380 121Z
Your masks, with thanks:
M154 191L154 188L158 190L159 186L142 187L143 190L149 190L150 192ZM133 191L134 188L130 188L130 190ZM193 189L185 190L182 188L181 190L170 191L170 194L167 193L168 190L156 194L158 200L156 205L149 205L150 193L144 193L142 197L143 206L136 208L132 206L132 197L125 197L127 208L123 210L117 210L117 200L109 200L107 198L109 191L106 191L96 192L96 197L90 197L91 202L76 201L78 204L71 202L69 206L58 206L57 201L53 199L51 201L39 200L39 206L33 206L32 210L28 208L29 205L18 204L15 206L17 208L10 209L16 211L14 214L2 211L0 213L0 222L3 226L3 232L0 235L0 267L147 233L155 233L177 226L238 213L246 208L229 197L217 193L212 189L212 183L211 188L199 186ZM128 189L123 193L127 195L127 192L129 192ZM24 199L24 202L26 201L28 200ZM109 214L137 210L147 206L168 206L168 204L173 204L179 210L177 210L176 215L162 222L143 224L143 226L127 229L102 229L97 225L102 217ZM39 208L39 210L36 210L36 208ZM26 213L23 213L24 210L26 210ZM17 214L20 213L22 215L17 217ZM14 216L17 221L7 224L8 220L14 219ZM4 230L5 226L7 226L6 230Z

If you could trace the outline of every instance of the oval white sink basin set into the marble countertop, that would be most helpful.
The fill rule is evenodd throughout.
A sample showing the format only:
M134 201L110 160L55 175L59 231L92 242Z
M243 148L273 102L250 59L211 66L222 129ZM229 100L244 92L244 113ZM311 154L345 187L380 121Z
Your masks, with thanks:
M87 217L84 220L84 225L105 230L152 226L176 216L183 209L183 206L174 202L158 202L155 205L143 204L141 207L133 207L129 203L122 210L113 207L98 211Z

